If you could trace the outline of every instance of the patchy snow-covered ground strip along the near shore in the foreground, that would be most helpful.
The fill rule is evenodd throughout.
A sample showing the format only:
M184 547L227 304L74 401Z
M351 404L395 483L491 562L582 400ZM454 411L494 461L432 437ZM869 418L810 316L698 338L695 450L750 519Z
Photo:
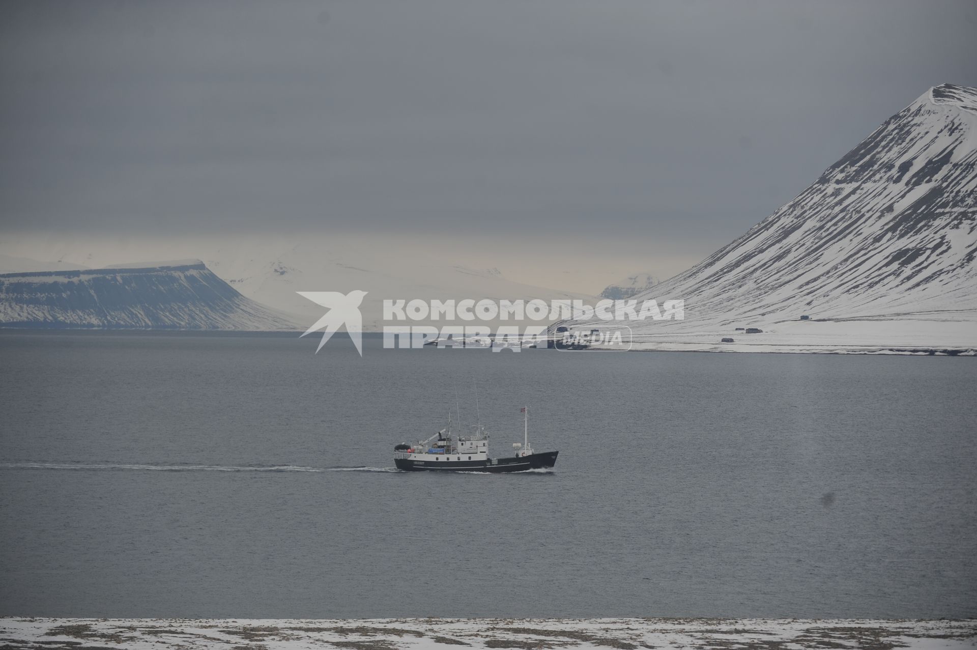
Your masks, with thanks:
M66 619L0 620L11 650L246 648L973 648L977 620Z

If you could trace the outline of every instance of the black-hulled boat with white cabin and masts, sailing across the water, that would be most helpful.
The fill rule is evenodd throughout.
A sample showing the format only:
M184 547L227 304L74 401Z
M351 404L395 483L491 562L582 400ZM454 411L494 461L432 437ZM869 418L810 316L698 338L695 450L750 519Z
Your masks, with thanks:
M468 435L452 430L448 412L447 426L427 440L401 443L394 447L394 464L398 469L417 472L524 472L548 469L556 464L559 452L535 453L530 446L530 409L523 407L523 442L513 443L512 455L490 457L488 433L482 423Z

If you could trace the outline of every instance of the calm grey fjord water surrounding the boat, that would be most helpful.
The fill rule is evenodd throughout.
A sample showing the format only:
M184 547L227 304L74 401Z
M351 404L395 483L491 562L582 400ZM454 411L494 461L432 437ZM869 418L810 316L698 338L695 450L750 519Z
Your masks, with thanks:
M0 333L0 615L977 614L973 359L316 344Z

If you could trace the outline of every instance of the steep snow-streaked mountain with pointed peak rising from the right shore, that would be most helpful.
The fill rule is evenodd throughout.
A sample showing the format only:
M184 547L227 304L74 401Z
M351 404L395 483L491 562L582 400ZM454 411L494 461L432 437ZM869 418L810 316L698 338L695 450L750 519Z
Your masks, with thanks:
M975 256L977 89L944 84L743 237L636 296L685 300L684 321L635 327L636 347L977 348Z

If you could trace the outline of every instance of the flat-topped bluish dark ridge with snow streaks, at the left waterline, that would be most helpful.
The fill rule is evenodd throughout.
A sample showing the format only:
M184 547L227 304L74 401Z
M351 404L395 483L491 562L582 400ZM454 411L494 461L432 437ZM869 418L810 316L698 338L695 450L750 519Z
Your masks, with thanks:
M295 329L202 262L0 275L0 326L116 329Z

